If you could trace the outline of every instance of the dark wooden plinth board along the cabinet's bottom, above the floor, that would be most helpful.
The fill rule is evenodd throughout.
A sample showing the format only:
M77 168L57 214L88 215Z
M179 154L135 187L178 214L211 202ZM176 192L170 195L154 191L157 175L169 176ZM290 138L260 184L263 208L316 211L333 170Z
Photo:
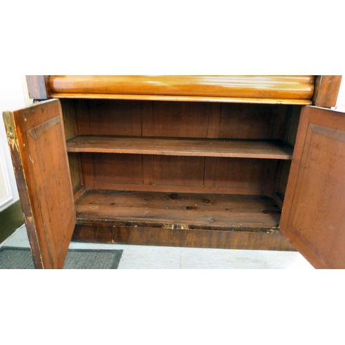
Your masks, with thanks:
M277 228L262 230L196 230L77 224L72 241L144 246L295 251Z

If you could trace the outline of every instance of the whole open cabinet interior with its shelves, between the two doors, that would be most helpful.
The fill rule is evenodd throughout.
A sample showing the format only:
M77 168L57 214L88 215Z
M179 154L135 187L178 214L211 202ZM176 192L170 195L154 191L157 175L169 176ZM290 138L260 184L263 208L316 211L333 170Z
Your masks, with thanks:
M301 106L114 99L61 104L77 224L278 228Z

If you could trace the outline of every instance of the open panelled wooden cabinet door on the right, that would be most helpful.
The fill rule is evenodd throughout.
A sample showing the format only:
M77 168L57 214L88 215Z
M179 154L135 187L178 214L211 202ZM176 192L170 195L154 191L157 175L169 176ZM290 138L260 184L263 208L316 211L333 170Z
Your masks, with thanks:
M315 268L345 268L345 114L303 108L280 228Z

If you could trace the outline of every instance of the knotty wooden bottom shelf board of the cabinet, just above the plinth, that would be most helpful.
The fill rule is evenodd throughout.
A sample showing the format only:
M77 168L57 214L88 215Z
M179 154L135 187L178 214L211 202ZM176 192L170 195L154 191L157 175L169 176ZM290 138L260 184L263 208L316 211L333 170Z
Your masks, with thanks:
M86 190L75 203L77 224L159 228L276 228L281 210L262 195Z

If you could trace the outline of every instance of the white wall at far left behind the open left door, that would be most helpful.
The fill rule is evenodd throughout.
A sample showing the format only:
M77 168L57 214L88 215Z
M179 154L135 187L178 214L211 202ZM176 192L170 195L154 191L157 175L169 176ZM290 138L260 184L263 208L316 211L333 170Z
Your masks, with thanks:
M2 113L30 103L25 76L0 76L0 212L19 199Z

